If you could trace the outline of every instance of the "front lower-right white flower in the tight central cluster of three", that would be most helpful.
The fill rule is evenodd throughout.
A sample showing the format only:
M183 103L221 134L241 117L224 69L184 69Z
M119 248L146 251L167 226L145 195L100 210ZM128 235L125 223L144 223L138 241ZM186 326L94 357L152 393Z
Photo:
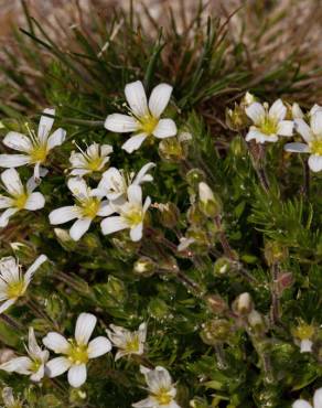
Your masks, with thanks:
M143 221L151 198L147 197L142 205L142 189L133 184L128 187L127 195L128 201L120 205L110 203L110 206L119 215L103 219L100 223L101 232L104 235L108 235L129 228L131 239L138 241L142 238Z

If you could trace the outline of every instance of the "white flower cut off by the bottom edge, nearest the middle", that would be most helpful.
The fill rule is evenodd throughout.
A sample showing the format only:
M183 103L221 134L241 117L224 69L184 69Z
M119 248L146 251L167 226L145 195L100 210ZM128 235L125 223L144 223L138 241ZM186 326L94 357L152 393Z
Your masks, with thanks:
M148 398L132 404L132 407L180 408L174 400L176 389L173 386L171 376L165 368L158 366L154 369L149 369L141 366L140 371L146 377L146 383L148 385L150 395Z

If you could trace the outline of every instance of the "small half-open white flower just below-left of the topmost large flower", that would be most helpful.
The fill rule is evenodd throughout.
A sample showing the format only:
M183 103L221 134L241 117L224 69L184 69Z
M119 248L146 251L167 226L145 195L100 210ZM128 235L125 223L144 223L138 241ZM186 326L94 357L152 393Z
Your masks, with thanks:
M69 162L72 164L71 175L85 175L104 170L105 164L109 161L109 154L112 147L109 144L90 144L86 151L80 148L80 153L72 152Z

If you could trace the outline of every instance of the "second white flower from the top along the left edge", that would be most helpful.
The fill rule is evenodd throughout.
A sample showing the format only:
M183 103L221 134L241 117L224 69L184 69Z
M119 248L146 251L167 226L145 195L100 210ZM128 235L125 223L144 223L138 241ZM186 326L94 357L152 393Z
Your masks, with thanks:
M20 175L15 169L8 169L1 173L3 190L9 196L0 194L0 210L4 210L0 214L0 228L6 227L9 218L22 210L36 211L43 208L45 198L41 193L33 193L36 187L34 179L31 178L26 185L22 185Z

